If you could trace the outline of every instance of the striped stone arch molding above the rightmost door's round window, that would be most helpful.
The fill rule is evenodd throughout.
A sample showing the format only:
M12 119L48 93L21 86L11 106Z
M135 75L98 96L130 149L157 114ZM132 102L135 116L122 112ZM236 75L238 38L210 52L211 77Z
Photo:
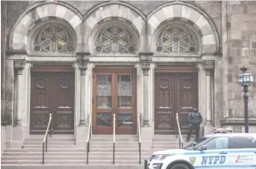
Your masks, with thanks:
M148 36L152 37L149 45L153 45L153 36L162 22L178 19L193 25L201 34L203 53L219 51L218 29L213 20L203 9L189 2L167 2L148 14Z

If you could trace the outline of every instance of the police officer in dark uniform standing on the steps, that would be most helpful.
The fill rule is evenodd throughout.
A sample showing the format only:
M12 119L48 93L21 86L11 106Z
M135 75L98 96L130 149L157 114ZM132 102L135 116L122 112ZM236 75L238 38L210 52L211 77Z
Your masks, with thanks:
M193 132L193 130L195 130L195 132L196 132L195 141L198 140L200 125L201 125L202 121L203 121L203 119L202 119L201 113L198 112L198 109L194 107L193 112L190 112L188 115L189 131L188 131L188 136L187 136L186 142L189 142L189 138L190 138L190 135Z

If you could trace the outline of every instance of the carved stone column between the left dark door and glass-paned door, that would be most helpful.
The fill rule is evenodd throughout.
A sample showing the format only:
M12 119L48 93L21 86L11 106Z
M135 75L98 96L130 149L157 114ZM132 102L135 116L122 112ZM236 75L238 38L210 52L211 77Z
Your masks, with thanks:
M81 94L80 94L80 122L79 127L86 127L87 118L85 116L85 99L86 99L86 84L85 84L85 76L86 70L88 68L88 57L90 53L88 52L77 52L77 60L78 60L78 67L81 71Z

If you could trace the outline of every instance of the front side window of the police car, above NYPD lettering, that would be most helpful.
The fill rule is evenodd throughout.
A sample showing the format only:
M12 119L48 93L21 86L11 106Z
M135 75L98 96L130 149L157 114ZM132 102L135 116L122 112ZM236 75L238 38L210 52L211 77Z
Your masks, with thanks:
M228 149L228 137L216 137L203 145L207 150Z

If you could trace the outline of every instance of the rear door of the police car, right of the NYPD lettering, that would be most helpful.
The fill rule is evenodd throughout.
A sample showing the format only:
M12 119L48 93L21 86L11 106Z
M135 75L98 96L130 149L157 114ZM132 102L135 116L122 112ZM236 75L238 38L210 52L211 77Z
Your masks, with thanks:
M256 168L256 141L253 137L233 137L230 168Z

